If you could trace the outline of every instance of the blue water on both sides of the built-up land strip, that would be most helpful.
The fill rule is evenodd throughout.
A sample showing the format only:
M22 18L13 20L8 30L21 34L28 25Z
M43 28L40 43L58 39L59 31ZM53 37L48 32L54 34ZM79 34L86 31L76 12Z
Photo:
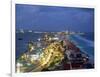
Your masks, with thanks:
M16 59L27 50L29 41L36 42L42 37L42 33L16 33ZM70 35L69 38L81 51L88 54L91 61L94 62L94 33L86 33L85 35Z

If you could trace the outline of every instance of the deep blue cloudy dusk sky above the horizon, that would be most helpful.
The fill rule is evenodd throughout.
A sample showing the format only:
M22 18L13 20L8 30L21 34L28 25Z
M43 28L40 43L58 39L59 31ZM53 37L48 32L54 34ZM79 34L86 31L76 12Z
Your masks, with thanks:
M94 9L16 4L16 29L93 32Z

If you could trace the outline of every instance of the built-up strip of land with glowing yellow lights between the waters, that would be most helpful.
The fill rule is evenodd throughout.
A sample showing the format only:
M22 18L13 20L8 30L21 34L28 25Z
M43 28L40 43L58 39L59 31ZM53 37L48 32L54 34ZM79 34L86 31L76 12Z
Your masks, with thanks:
M23 34L21 30L21 34ZM32 31L29 31L32 33ZM37 32L37 41L29 41L26 50L16 58L16 72L40 72L87 69L94 67L94 61L70 39L78 32ZM18 38L23 40L23 38ZM17 52L17 51L16 51Z

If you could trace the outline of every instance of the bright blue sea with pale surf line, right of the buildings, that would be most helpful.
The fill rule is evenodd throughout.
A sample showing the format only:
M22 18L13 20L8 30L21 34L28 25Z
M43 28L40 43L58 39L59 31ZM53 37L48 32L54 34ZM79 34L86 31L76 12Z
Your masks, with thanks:
M90 60L94 63L94 33L71 35L70 40L72 40L72 42L79 47L82 52L88 54Z

